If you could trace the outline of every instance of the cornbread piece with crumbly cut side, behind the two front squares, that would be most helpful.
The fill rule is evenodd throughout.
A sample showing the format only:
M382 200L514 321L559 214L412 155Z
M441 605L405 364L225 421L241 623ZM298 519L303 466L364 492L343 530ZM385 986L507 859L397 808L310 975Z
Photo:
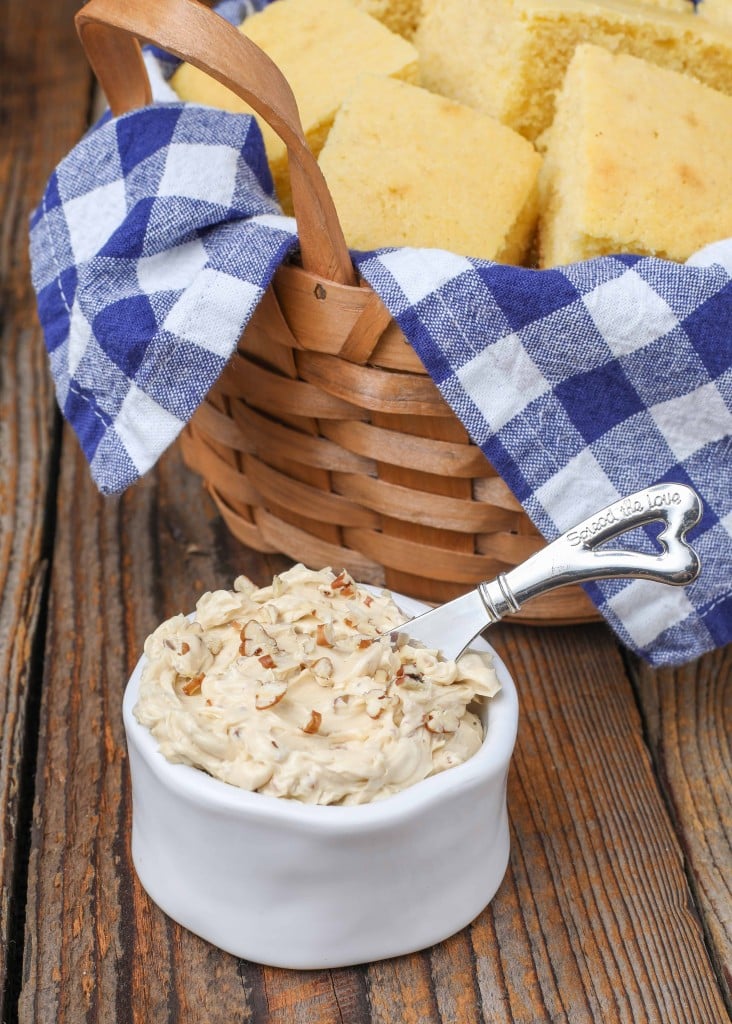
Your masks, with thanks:
M732 30L630 0L425 0L415 36L420 84L492 114L542 147L554 97L583 42L732 94Z

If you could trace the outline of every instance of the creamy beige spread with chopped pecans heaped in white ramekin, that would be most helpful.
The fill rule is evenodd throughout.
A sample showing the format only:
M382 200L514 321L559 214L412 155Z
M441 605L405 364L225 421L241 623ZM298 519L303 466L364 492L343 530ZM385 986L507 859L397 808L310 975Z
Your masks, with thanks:
M390 637L403 622L345 571L295 565L263 588L240 577L147 638L135 716L169 761L244 790L388 797L475 754L468 705L500 685L487 654L456 664Z

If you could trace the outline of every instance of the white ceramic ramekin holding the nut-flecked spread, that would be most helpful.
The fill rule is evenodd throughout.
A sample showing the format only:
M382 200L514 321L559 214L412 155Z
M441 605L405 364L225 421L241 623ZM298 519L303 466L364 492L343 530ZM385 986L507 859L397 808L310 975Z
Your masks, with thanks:
M426 606L394 595L405 614ZM476 649L488 649L482 641ZM484 706L478 753L373 804L319 807L247 793L170 764L124 698L132 859L150 898L221 949L273 967L345 967L423 949L490 901L509 855L513 681Z

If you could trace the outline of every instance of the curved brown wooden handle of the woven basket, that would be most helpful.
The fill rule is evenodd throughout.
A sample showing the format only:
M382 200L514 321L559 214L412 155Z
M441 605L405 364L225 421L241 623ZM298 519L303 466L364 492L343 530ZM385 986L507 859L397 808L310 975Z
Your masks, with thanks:
M305 141L295 96L255 43L199 0L89 0L75 20L114 115L150 102L142 41L215 78L264 118L288 150L303 266L331 281L355 284L333 198Z

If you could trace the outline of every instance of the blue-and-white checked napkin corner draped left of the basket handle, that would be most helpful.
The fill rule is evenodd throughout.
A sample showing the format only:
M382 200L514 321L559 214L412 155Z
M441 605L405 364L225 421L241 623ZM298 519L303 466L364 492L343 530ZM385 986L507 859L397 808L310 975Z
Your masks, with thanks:
M58 402L104 493L178 436L295 245L249 117L168 103L107 119L31 220Z

